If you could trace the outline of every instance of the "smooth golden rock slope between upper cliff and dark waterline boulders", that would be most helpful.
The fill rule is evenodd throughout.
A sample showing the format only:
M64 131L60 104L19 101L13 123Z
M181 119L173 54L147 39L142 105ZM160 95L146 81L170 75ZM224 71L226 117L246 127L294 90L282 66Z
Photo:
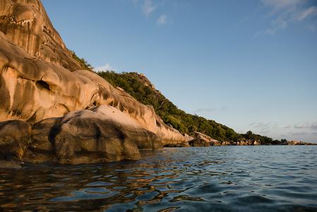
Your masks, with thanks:
M1 36L1 32L0 32ZM111 105L129 115L164 143L181 143L184 136L143 105L91 71L68 71L0 40L0 121L23 119L30 123L97 105ZM14 52L14 53L12 53Z

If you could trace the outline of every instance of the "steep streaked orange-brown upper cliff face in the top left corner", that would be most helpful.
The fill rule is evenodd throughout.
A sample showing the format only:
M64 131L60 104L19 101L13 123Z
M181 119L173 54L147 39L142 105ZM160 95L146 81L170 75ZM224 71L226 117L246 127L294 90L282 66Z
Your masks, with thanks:
M1 0L0 30L31 58L64 66L70 71L80 67L38 0Z

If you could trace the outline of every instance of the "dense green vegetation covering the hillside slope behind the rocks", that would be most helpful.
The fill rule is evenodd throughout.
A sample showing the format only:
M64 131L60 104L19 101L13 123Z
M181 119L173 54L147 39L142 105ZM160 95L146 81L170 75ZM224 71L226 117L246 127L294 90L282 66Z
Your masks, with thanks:
M214 120L187 114L167 100L160 91L143 83L147 79L136 72L116 73L114 71L103 71L98 74L111 83L112 86L123 88L139 102L145 105L152 105L155 112L166 124L172 125L182 134L186 133L193 136L194 131L199 131L220 142L229 141L232 144L241 140L258 140L261 141L261 144L277 144L277 142L280 142L273 141L273 139L267 136L253 134L251 131L248 131L246 134L237 134L233 129L219 124Z

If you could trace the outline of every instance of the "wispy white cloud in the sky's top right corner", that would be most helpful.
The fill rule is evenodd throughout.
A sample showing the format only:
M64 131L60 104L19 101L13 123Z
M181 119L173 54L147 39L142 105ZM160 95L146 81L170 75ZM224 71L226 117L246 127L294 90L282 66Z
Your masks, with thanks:
M301 23L311 31L317 28L317 7L307 4L306 0L261 0L261 4L269 9L270 26L258 35L275 35L277 31L290 24Z

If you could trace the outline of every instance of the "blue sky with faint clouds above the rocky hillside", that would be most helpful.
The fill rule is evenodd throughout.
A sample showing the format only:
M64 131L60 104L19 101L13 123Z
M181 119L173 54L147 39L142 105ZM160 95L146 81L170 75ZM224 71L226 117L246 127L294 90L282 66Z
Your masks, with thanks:
M95 70L144 73L181 110L317 143L317 0L42 0Z

